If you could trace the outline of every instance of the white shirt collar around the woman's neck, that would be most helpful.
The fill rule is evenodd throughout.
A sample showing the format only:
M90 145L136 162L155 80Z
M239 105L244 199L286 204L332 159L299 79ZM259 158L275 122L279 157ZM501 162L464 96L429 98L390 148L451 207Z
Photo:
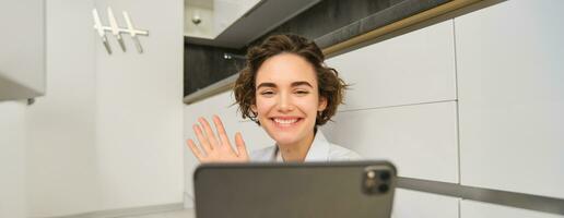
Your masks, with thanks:
M278 145L274 145L274 154L272 154L272 159L277 162L283 162L282 153L280 153L280 148ZM304 161L327 161L329 159L329 142L325 138L324 133L321 131L317 131L314 137L314 142L307 150L307 155Z

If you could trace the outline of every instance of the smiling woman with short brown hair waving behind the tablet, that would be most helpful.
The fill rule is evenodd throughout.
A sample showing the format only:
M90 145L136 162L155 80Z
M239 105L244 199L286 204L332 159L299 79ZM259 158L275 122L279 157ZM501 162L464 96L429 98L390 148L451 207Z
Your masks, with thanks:
M218 136L204 118L188 146L201 162L232 161L332 161L353 160L352 150L327 142L318 125L325 124L342 102L346 84L327 68L321 50L296 35L275 35L247 53L245 69L235 83L235 99L244 119L262 126L277 144L250 156L240 133L231 146L218 116Z

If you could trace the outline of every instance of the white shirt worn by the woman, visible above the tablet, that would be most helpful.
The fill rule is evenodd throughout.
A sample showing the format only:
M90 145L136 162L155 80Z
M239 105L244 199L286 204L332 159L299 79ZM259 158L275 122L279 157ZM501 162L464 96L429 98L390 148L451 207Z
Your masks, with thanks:
M360 160L362 157L353 150L329 143L321 131L317 131L314 142L307 150L304 161L348 161ZM278 146L270 146L250 153L250 161L283 162Z

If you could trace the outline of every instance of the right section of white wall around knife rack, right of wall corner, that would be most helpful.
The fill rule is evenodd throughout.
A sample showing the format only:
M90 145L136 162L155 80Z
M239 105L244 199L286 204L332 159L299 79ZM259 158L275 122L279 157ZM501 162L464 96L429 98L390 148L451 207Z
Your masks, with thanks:
M139 40L108 56L95 38L96 140L104 209L183 202L184 1L96 0L128 11ZM106 13L103 13L106 14ZM105 16L105 15L103 15ZM118 22L125 25L121 16ZM94 34L94 32L92 32Z

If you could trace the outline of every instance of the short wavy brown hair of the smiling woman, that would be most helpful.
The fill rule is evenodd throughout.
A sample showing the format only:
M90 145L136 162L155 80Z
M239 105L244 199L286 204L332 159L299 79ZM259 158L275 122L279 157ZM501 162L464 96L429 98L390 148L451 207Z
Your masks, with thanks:
M338 76L337 70L325 64L325 56L314 41L291 34L270 36L248 50L245 68L239 72L234 87L235 100L239 105L243 119L249 118L260 125L257 114L251 110L251 106L256 104L257 72L267 59L280 53L297 55L314 66L319 97L327 99L327 108L317 114L315 123L316 126L325 124L343 102L348 85Z

